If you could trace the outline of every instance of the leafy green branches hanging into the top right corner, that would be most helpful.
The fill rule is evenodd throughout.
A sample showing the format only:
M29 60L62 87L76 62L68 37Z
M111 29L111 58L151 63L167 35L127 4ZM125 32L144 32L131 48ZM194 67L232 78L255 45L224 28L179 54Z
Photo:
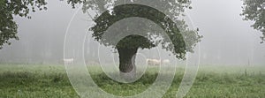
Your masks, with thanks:
M261 31L261 43L265 41L265 0L244 0L243 12L245 20L254 21L254 29Z

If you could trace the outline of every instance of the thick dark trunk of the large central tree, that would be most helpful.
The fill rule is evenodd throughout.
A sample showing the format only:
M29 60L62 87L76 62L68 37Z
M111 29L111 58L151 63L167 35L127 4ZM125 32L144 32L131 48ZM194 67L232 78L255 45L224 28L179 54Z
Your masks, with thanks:
M117 48L119 54L119 71L125 79L136 75L135 55L138 49Z

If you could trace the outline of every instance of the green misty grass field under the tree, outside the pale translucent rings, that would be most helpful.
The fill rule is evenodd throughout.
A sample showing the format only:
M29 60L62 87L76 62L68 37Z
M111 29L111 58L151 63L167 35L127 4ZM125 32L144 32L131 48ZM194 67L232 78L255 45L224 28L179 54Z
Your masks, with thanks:
M140 80L122 84L109 79L94 66L92 78L104 91L116 95L133 95L147 89L157 72L149 69ZM89 70L90 71L90 70ZM179 67L164 98L175 97L183 77ZM187 98L263 98L265 67L200 66ZM0 64L0 98L75 98L64 65Z

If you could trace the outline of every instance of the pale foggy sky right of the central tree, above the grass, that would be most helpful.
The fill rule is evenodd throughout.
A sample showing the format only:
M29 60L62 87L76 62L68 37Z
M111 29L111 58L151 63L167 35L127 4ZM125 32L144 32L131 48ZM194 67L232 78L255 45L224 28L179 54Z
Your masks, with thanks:
M193 0L187 14L204 36L201 41L202 63L265 64L265 44L261 33L242 20L241 0Z

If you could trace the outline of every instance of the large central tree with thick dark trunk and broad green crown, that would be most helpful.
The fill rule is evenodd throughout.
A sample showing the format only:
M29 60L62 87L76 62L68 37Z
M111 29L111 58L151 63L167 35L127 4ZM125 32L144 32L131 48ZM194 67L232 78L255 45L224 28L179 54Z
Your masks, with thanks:
M120 72L132 72L133 68L135 69L135 57L133 56L137 53L138 49L151 49L156 47L158 43L161 43L163 49L171 51L177 58L186 59L186 52L193 52L196 43L201 40L202 36L197 31L189 29L184 20L178 19L186 8L191 9L191 2L189 0L154 0L152 2L145 2L160 7L163 12L143 5L144 3L133 4L142 2L142 0L122 1L131 4L121 4L120 2L111 0L68 0L68 3L72 4L73 7L75 4L83 4L84 12L88 10L96 11L94 17L95 26L90 28L93 31L92 36L103 45L117 49ZM149 19L155 22L156 25L163 28L165 33L169 35L172 43L165 39L159 39L165 36L161 32L157 32L157 29L148 29L148 26L152 26L150 23L140 20L133 21L138 24L137 29L133 30L129 29L132 26L135 27L135 25L130 25L133 24L131 22L127 24L117 23L119 20L133 17ZM117 26L114 28L114 32L111 32L112 36L103 37L103 34L114 24ZM145 34L141 36L132 33L125 36L116 44L113 39L118 39L125 32L142 32Z

